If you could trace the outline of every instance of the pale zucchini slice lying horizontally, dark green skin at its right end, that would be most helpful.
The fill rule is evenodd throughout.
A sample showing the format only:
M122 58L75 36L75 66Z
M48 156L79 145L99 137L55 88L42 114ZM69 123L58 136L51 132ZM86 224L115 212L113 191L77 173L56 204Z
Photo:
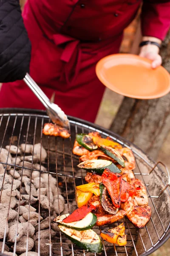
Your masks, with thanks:
M99 172L103 173L106 168L108 168L111 172L116 172L120 173L121 170L113 164L109 160L104 160L104 159L95 159L95 160L88 160L84 161L82 163L78 164L79 168L82 168L86 171L94 171L94 172Z

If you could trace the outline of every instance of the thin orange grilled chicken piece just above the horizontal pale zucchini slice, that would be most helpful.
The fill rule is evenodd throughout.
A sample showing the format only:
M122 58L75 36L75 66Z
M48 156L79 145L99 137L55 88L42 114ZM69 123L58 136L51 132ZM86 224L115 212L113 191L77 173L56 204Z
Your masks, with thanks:
M105 154L104 152L102 152L100 150L94 150L94 151L88 152L88 154L82 155L82 157L80 157L79 160L80 160L80 162L84 162L84 161L88 161L88 160L95 160L98 158L110 160L115 163L115 160L113 158L107 156L107 154Z

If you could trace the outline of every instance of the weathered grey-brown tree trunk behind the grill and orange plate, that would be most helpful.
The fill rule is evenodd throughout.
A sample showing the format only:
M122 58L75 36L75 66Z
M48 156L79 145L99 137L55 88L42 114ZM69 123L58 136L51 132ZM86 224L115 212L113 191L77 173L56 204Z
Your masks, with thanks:
M160 54L163 67L170 72L170 31L162 43ZM110 130L156 159L170 131L170 93L150 100L125 97Z

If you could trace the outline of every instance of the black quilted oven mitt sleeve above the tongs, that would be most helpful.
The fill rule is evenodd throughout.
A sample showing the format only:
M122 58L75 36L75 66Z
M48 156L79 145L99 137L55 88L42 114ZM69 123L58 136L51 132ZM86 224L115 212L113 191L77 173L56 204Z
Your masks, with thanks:
M31 43L19 0L0 0L0 82L23 79L29 71Z

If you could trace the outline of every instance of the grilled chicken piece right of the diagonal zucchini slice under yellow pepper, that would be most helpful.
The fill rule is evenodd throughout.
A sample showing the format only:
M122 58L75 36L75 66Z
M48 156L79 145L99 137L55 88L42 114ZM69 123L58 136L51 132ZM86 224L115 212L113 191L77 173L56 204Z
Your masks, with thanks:
M135 165L135 157L133 152L129 148L121 148L117 149L122 157L126 157L127 161L125 161L125 168L128 170L134 170Z

